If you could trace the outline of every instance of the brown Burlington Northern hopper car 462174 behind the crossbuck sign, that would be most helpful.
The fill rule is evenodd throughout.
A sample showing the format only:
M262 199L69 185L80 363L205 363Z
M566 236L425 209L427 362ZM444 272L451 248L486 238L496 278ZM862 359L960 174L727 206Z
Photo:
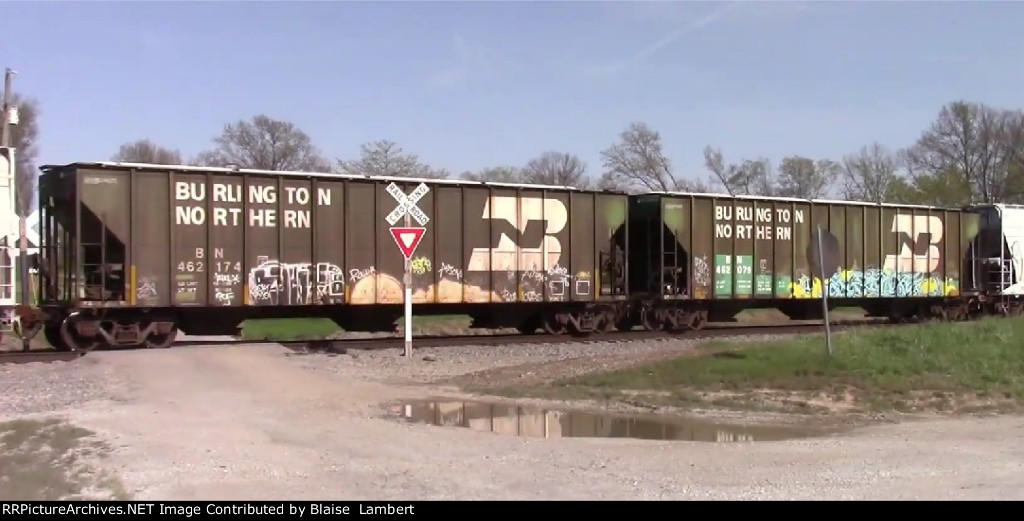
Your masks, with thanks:
M417 314L594 331L625 300L628 199L559 186L77 163L42 167L41 307L54 346L169 346L248 318L393 331ZM410 216L407 219L406 210ZM418 220L419 219L419 220Z

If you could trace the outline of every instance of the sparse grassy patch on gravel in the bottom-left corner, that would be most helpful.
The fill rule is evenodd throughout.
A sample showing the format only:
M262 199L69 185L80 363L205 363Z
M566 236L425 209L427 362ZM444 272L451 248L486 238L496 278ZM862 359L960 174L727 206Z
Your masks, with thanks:
M89 465L110 447L59 420L0 422L0 497L17 501L128 500L121 483Z

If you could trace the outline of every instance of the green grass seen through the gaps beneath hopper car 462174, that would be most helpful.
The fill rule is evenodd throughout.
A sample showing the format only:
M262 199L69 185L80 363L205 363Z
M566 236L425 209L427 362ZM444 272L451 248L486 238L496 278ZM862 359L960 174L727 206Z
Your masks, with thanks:
M470 319L465 315L414 316L414 335L465 333ZM404 323L398 319L398 327ZM330 318L262 318L246 320L242 324L245 340L289 341L319 340L343 331Z

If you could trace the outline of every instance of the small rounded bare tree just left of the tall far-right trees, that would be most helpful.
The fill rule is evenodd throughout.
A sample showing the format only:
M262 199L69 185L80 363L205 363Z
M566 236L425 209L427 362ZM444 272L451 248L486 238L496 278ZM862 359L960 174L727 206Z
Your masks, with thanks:
M900 176L900 158L880 143L862 146L843 158L843 196L868 203L907 203L906 181Z

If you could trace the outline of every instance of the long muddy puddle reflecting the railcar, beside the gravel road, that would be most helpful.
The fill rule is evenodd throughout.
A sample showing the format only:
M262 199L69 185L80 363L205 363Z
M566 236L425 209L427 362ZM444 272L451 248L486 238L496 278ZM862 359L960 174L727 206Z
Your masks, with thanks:
M822 434L795 427L748 427L683 418L552 410L479 401L416 401L398 405L394 413L410 422L540 438L730 442L776 441Z

